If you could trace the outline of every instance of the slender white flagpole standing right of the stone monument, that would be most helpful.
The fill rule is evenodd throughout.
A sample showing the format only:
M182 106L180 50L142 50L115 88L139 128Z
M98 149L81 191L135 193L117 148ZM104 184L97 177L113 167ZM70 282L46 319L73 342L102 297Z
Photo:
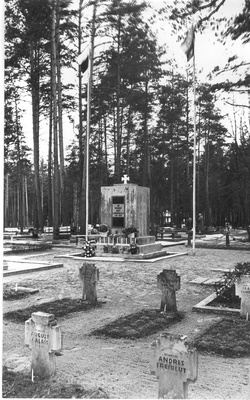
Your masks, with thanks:
M194 124L194 154L193 154L193 255L195 255L195 231L196 231L196 75L195 75L195 51L193 55L193 124Z

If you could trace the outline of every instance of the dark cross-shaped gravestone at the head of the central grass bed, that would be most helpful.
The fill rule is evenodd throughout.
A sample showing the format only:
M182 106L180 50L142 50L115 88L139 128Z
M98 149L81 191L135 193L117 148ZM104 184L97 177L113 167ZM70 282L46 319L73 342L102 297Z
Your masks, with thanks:
M162 290L161 311L177 311L176 290L181 286L181 278L173 269L164 269L157 275L157 287Z

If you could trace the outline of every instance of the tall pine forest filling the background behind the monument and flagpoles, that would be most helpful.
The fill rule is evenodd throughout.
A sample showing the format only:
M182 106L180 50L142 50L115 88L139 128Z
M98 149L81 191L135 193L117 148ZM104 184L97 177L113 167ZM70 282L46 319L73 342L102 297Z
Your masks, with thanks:
M194 118L197 213L206 227L250 225L250 3L233 17L221 17L227 0L154 3L5 2L4 227L84 234L87 146L89 224L102 222L101 186L127 174L150 188L152 232L166 211L180 227L192 217ZM239 43L245 59L229 57L204 78L185 57L177 63L170 42L180 47L194 16L195 43L212 32ZM165 43L157 26L168 27ZM83 73L76 60L91 44ZM232 99L230 115L221 97Z

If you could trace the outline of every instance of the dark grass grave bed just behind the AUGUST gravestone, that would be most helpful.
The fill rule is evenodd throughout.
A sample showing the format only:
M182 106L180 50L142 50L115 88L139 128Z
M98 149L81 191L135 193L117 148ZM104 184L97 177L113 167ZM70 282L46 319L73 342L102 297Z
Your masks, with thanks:
M69 314L78 311L89 311L95 307L101 307L102 303L90 304L82 299L64 298L48 303L33 305L24 309L9 311L3 314L4 319L9 319L13 322L25 322L31 317L33 312L41 311L48 314L54 314L55 318L65 317Z

